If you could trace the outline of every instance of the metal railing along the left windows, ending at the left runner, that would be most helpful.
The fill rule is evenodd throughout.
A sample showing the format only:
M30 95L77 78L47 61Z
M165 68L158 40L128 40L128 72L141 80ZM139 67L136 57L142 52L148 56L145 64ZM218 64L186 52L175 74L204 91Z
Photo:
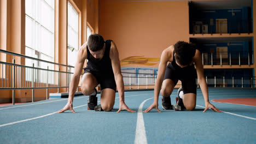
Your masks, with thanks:
M57 88L59 93L60 88L68 88L69 82L73 73L70 71L74 68L71 65L59 64L42 59L28 57L18 53L0 50L0 53L6 53L13 56L13 63L0 62L0 90L13 91L13 104L15 104L16 89L31 89L32 102L34 102L34 89L46 89L46 99L48 99L48 89ZM33 66L15 64L15 57L23 57L33 60ZM47 68L36 68L34 62L46 63ZM59 70L49 69L49 66L58 65ZM60 66L66 67L68 71L60 71ZM80 83L79 86L80 87ZM68 89L69 90L69 89ZM77 89L78 91L78 89Z

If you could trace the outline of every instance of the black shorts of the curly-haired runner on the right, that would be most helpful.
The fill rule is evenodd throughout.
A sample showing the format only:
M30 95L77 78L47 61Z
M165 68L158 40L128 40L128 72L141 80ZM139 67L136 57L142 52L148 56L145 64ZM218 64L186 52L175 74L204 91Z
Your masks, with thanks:
M177 84L178 80L182 82L183 93L195 93L196 94L196 70L193 65L188 65L184 68L173 67L169 63L165 70L165 79L171 79L174 82L174 85Z

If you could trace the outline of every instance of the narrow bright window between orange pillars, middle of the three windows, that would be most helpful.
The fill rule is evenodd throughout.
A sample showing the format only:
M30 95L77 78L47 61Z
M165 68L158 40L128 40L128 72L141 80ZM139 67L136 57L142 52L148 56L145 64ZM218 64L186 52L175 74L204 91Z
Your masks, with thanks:
M75 65L78 54L78 13L68 2L68 65Z

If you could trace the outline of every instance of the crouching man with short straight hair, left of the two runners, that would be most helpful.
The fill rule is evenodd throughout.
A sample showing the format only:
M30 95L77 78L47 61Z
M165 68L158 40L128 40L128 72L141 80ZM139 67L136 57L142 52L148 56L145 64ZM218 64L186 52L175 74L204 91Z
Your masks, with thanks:
M119 110L131 110L124 102L124 81L121 74L119 54L114 41L103 40L99 34L91 34L88 43L83 44L77 57L77 63L74 68L69 85L68 103L58 113L71 110L73 113L73 99L75 90L78 87L79 78L85 59L88 59L88 65L84 68L84 74L81 80L81 90L84 95L89 95L88 110L111 111L115 103L116 87L119 93ZM101 86L101 105L97 106L96 86Z

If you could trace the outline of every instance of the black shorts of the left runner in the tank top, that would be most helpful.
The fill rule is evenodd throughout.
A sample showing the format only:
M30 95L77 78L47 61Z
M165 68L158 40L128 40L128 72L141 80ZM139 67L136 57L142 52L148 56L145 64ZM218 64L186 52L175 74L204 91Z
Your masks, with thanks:
M111 88L114 89L114 91L117 89L117 85L115 84L115 77L113 73L104 73L106 71L95 71L90 68L84 68L84 74L85 73L91 73L94 75L94 77L97 79L98 84L101 85L101 89L104 88Z

